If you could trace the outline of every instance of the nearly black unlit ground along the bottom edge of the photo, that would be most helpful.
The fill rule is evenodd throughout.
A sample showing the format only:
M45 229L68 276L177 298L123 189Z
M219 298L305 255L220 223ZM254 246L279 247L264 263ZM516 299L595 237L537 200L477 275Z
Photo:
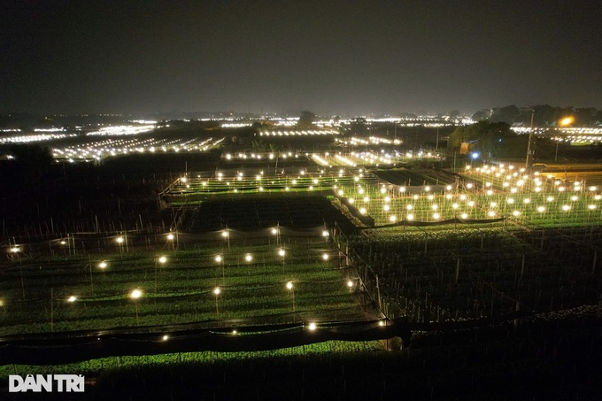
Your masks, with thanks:
M522 321L517 329L414 335L403 351L363 343L339 350L335 343L326 351L308 346L305 355L174 355L163 365L130 357L87 375L86 392L69 399L593 400L602 391L601 335L599 321L582 311Z

